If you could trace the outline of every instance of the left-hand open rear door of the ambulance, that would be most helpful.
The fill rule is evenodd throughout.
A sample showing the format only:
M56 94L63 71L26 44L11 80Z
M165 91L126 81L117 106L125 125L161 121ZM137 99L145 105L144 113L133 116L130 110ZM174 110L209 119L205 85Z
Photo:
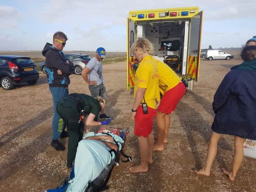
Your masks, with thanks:
M127 89L134 86L135 70L133 65L135 64L135 57L131 52L131 45L136 39L135 22L127 18Z

